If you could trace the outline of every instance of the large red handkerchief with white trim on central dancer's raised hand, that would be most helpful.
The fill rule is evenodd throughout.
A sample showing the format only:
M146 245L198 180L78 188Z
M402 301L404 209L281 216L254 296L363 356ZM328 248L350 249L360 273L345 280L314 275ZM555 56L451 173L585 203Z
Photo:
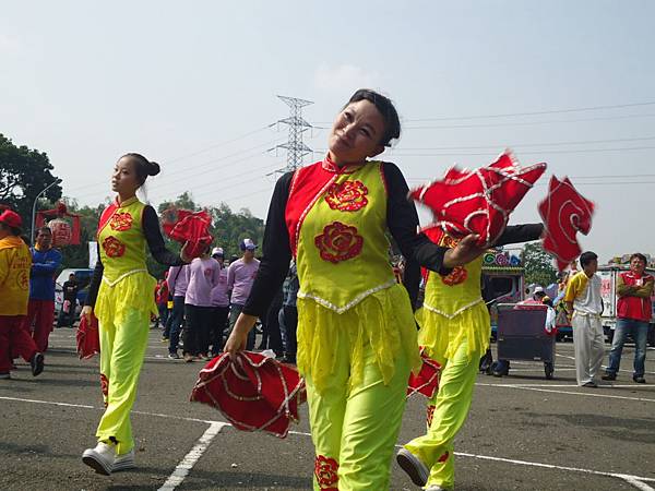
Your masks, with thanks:
M479 235L478 247L493 244L503 232L510 214L541 177L546 164L521 167L511 152L476 170L451 167L443 179L409 192L427 205L436 224L454 238Z

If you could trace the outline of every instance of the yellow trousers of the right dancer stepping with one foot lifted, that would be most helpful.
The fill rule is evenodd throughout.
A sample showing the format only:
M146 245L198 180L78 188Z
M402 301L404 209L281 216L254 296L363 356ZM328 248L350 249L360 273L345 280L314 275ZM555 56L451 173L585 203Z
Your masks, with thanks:
M442 363L439 392L428 402L431 423L427 434L412 440L405 448L412 452L430 469L427 486L453 488L455 481L455 458L453 440L471 408L473 388L483 352L468 352L464 340L451 359L436 358ZM433 411L430 406L433 406Z

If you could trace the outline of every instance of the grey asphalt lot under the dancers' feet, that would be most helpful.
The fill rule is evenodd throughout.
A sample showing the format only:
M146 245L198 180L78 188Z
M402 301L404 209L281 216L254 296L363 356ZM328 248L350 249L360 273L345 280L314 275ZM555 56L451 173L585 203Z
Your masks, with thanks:
M98 361L76 358L74 333L55 330L40 376L21 362L0 381L0 490L311 488L307 408L285 440L236 431L216 410L189 403L202 364L168 360L155 330L132 415L139 468L94 474L81 454L95 445L102 414ZM651 383L634 384L622 371L594 390L575 385L572 344L557 350L555 380L533 362L512 362L502 379L478 376L455 444L458 491L655 489L655 351ZM632 356L627 347L623 369ZM398 443L425 430L424 405L408 402ZM391 489L417 489L395 462Z

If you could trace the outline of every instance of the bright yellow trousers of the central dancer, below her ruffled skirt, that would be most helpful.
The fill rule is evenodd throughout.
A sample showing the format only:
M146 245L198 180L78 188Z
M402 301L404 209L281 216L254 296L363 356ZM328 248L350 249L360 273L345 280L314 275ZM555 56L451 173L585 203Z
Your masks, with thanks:
M308 376L307 397L315 447L314 490L382 491L389 489L394 444L405 408L409 364L403 355L388 385L369 344L364 348L364 381L348 390L350 360L336 351L329 385L318 393Z

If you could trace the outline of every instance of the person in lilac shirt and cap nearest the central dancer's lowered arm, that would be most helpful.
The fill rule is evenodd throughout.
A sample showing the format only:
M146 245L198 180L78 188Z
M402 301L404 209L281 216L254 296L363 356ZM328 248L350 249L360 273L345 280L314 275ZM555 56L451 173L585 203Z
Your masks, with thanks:
M231 291L228 337L243 310L246 300L248 300L260 263L254 259L257 246L251 239L241 240L239 248L243 251L243 255L227 268L227 289ZM254 348L254 330L248 333L248 343L246 344L246 349L252 350L252 348Z

